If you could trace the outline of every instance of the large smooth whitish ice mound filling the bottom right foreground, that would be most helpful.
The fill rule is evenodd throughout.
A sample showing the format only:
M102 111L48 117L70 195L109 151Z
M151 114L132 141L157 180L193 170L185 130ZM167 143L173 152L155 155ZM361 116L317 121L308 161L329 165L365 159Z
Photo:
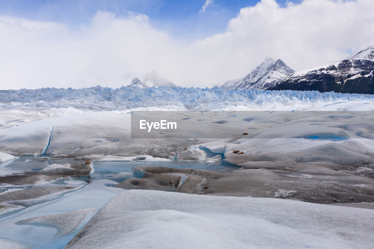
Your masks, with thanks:
M65 248L371 248L373 215L293 200L129 190Z

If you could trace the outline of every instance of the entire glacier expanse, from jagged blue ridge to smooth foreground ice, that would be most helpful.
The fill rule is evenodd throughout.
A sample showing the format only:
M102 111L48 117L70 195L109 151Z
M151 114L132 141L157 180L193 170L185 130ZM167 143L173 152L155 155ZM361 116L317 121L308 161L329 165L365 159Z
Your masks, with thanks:
M374 95L316 91L179 86L0 90L0 151L10 159L0 163L1 174L7 174L0 182L2 188L12 188L0 193L7 215L0 219L0 243L61 248L76 231L55 239L56 228L15 223L37 219L39 225L46 218L39 216L54 219L77 209L99 209L109 201L67 248L138 248L146 243L165 248L166 239L168 245L184 248L197 243L217 248L369 248L373 110ZM209 119L191 116L193 122L206 123L201 137L191 126L183 131L191 138L134 139L131 111L169 111L178 120L183 119L178 111L201 111ZM269 111L284 112L275 118L265 115ZM288 116L297 111L316 115ZM20 160L16 155L22 165L43 161L43 169L9 167ZM70 169L74 160L113 162L110 167L131 161L134 172L113 172L111 179L106 173L96 179L100 173L93 170L93 178L54 174ZM186 161L207 168L183 167ZM214 170L223 162L238 167ZM15 177L19 185L7 182ZM36 192L34 199L23 198L26 188ZM50 194L39 193L49 188ZM114 197L118 193L123 194ZM102 219L105 224L98 222ZM252 232L237 237L243 231Z

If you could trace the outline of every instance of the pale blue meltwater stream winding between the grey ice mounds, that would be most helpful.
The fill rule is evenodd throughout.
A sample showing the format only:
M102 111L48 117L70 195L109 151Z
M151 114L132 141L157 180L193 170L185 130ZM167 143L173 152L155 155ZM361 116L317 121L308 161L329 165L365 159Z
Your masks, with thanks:
M40 159L43 156L22 156L19 159L0 163L0 175L9 175L12 173L21 173L25 170L40 170L57 163L81 163L73 158L62 158L55 160ZM211 171L234 170L240 167L231 163L221 161L217 163L202 162L98 162L93 161L95 172L92 176L62 178L53 182L42 184L47 185L76 185L77 190L65 193L63 196L57 196L53 200L47 200L39 204L17 210L14 212L0 215L0 240L9 243L22 243L23 248L63 248L71 238L79 231L74 231L64 237L55 237L57 228L43 227L40 225L16 225L17 221L28 219L41 215L58 214L70 212L78 209L92 208L100 209L110 199L122 191L122 188L111 187L123 179L112 181L109 178L119 175L123 172L133 172L132 168L138 166L163 166L172 168L206 169ZM141 177L142 174L129 174L130 177ZM132 175L132 176L131 176ZM38 185L39 186L39 185ZM0 184L0 192L7 191L9 185ZM34 186L18 186L24 189ZM87 222L88 219L85 221ZM83 226L84 224L82 224Z

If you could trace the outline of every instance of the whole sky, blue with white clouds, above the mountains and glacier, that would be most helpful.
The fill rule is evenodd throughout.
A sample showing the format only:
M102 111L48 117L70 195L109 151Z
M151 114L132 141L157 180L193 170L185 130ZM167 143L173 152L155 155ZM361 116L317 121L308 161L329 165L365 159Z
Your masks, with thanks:
M205 87L266 57L294 70L374 45L373 0L0 0L0 89Z

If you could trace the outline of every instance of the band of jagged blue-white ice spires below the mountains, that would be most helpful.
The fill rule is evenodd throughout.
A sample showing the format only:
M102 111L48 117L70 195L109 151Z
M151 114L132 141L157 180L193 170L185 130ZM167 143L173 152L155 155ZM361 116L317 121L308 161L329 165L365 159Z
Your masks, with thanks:
M294 110L310 107L319 103L337 103L346 101L373 102L374 95L348 94L318 91L293 90L258 90L258 89L224 89L221 87L91 87L42 88L21 90L0 90L0 111L8 111L2 115L1 125L16 122L17 114L10 110L45 111L44 115L53 113L75 114L81 111L109 111L134 108L157 108L164 110L238 110L239 106L246 110ZM291 106L291 107L290 107ZM281 108L281 109L279 109ZM295 109L296 110L296 109ZM331 108L330 110L336 110ZM40 117L43 115L40 114ZM13 118L13 120L12 120Z

